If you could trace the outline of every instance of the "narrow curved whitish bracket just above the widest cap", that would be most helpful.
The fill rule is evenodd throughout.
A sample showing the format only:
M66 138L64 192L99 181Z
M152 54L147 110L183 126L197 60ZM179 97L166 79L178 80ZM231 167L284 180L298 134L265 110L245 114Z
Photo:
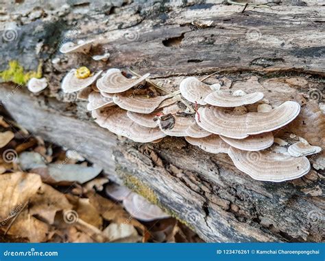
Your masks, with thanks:
M254 92L244 96L234 96L222 91L215 91L206 96L204 102L218 107L239 107L250 105L263 99L263 92Z

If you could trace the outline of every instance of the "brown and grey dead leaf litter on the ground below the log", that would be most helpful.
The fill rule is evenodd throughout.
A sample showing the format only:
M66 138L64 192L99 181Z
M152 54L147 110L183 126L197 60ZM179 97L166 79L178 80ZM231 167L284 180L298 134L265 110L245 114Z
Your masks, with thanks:
M3 115L0 153L0 242L202 242L82 154Z

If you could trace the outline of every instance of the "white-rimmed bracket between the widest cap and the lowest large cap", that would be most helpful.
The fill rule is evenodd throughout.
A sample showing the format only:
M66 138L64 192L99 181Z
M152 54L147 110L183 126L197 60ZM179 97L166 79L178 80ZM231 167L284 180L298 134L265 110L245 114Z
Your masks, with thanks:
M239 150L248 151L265 150L271 147L274 142L274 137L271 132L251 135L245 139L232 139L221 135L220 137L230 146Z

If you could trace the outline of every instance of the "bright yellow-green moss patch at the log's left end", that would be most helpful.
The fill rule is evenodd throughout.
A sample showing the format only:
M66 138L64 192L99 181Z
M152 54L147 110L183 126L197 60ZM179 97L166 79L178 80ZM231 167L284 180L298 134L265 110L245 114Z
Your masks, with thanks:
M0 77L3 79L3 81L12 81L13 83L25 85L29 79L33 77L42 77L42 66L43 63L40 61L37 71L25 72L23 66L21 66L18 61L9 61L9 68L0 72Z

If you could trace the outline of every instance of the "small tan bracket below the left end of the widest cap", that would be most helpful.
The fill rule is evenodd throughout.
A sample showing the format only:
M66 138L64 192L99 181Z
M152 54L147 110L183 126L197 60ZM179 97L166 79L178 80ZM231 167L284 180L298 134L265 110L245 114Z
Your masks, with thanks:
M185 137L186 141L210 153L228 153L229 145L220 139L219 135L212 134L204 138Z

